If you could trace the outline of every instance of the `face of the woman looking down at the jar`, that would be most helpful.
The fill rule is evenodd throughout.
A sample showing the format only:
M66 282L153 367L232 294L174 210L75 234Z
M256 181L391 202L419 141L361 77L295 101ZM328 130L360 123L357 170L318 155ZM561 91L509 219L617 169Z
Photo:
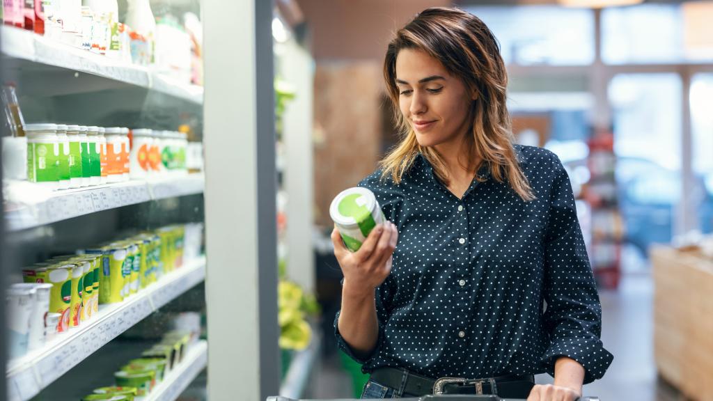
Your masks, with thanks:
M402 49L396 57L399 108L421 146L461 145L475 98L465 83L440 61L419 49Z

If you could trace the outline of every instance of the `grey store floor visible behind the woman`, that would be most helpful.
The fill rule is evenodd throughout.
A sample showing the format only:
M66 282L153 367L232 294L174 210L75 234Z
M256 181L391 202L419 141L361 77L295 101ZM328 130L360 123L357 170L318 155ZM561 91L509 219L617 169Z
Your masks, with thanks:
M602 401L679 400L671 387L657 381L652 338L652 280L647 269L629 268L618 290L601 290L602 341L615 355L602 380L585 385L585 395ZM324 360L314 397L349 397L349 378L339 360ZM551 382L539 375L538 382Z

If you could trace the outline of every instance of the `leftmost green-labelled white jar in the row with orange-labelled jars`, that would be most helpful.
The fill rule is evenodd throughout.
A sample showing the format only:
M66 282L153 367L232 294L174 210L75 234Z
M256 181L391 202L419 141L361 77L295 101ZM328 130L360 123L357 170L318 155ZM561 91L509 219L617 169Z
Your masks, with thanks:
M27 179L55 190L59 183L59 138L56 124L27 124Z

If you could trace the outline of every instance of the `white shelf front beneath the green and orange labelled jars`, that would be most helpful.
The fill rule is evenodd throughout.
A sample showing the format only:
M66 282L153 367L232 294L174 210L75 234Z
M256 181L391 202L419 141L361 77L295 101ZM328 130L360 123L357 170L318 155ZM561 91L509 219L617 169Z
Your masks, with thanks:
M202 174L187 174L53 192L39 191L26 181L11 182L6 191L6 227L24 230L149 200L202 193L204 182Z

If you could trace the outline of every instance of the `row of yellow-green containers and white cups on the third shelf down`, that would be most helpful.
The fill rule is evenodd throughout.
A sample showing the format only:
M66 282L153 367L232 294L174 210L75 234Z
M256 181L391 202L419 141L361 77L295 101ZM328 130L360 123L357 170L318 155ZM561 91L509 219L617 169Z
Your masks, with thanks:
M76 255L58 255L22 271L8 293L11 357L42 347L56 333L92 320L98 305L123 302L198 258L202 224L170 225Z

